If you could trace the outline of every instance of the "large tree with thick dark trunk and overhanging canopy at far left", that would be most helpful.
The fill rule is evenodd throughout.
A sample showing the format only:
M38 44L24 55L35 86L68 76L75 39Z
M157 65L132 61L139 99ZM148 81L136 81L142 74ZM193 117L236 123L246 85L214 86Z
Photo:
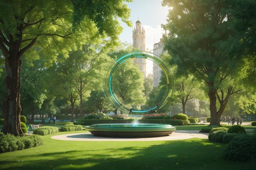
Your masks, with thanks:
M122 31L118 18L130 25L130 11L122 0L2 0L0 9L0 50L7 73L2 132L13 135L23 135L20 127L23 55L27 60L35 60L39 58L38 52L44 53L48 64L52 64L58 54L68 57L68 52L84 41L97 38L95 30L116 42Z

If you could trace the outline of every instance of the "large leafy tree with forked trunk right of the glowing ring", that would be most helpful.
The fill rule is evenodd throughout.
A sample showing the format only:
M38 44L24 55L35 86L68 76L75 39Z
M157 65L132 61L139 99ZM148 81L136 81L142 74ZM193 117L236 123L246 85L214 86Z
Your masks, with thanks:
M242 60L241 35L232 29L234 18L225 0L164 0L173 7L168 14L165 49L178 71L192 73L208 88L211 123L220 126L220 116L229 96L239 93L233 75Z

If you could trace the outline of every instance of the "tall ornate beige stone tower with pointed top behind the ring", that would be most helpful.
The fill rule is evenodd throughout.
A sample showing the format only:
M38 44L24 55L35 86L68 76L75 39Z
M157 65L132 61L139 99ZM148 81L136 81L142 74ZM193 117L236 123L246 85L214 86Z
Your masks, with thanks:
M133 48L145 51L145 38L145 29L141 27L141 22L137 20L135 28L132 29ZM135 58L133 59L133 63L139 66L141 73L143 73L143 77L146 78L146 59Z

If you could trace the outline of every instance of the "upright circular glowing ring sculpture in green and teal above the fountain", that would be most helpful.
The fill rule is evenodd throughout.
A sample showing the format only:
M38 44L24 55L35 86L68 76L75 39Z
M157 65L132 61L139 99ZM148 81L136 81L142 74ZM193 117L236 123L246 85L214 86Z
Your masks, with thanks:
M134 58L145 58L148 60L151 60L155 62L160 68L162 68L162 71L164 72L164 75L166 77L166 87L167 90L161 100L159 100L153 107L150 107L145 110L135 110L132 109L132 113L155 113L160 108L164 107L169 99L171 98L171 95L173 93L173 85L174 85L174 78L173 73L170 69L170 66L168 63L164 62L159 56L150 53L150 52L134 52L134 53L126 53L119 57L111 66L106 76L106 84L105 84L105 94L110 99L112 104L117 106L117 108L121 111L124 111L125 113L128 113L130 108L125 106L120 100L117 98L115 91L113 89L112 85L112 79L115 75L115 71L117 68L126 60L134 59Z

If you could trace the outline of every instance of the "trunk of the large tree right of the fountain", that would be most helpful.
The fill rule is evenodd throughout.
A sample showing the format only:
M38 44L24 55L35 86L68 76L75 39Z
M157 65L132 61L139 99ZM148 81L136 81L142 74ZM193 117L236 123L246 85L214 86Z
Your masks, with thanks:
M213 82L209 82L209 99L210 99L210 113L211 113L211 122L209 126L217 125L220 126L220 114L217 114L216 108L216 88L214 87Z

